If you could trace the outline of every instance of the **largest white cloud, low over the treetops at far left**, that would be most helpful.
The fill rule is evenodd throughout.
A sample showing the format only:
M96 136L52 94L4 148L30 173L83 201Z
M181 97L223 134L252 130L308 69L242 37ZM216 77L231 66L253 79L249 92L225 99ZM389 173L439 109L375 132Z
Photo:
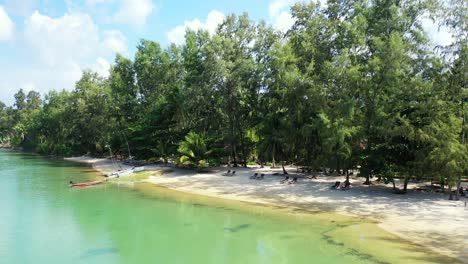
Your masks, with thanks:
M82 13L49 17L34 12L18 34L14 61L0 60L0 100L11 105L20 88L41 94L51 89L72 89L82 70L108 76L115 52L128 54L126 37L120 31L102 31Z

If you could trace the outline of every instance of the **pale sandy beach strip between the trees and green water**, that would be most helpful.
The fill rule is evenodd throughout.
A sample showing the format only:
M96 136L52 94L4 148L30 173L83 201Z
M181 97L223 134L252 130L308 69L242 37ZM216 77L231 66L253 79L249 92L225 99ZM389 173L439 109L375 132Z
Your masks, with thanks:
M91 157L66 158L86 163L95 170L107 174L115 171L109 159ZM123 165L122 169L131 166ZM159 171L166 167L145 166L145 171ZM214 168L208 173L171 168L173 171L150 176L145 182L165 188L221 199L237 200L295 208L307 211L323 211L347 216L364 217L377 222L383 230L412 243L422 245L442 255L468 263L468 207L460 201L449 201L448 195L409 191L405 195L393 194L383 184L362 185L362 178L350 177L353 188L346 191L331 190L335 181L344 176L319 176L318 179L299 178L297 184L280 184L284 177L281 168ZM222 176L228 169L236 170L236 176ZM293 167L286 168L291 175ZM270 174L263 180L249 179L254 172ZM408 190L416 187L410 184ZM440 216L445 219L440 221Z

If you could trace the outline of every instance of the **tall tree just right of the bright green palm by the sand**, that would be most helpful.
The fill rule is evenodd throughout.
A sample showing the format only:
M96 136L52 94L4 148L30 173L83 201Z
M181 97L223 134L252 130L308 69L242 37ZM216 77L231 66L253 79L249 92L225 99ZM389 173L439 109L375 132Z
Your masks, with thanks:
M219 56L217 89L223 100L222 111L226 118L225 139L229 144L234 166L237 166L238 158L247 166L249 154L246 130L252 124L251 103L256 105L258 102L249 98L257 95L250 89L259 89L249 85L254 71L251 56L254 36L252 22L244 13L239 17L228 16L212 40L213 48Z

